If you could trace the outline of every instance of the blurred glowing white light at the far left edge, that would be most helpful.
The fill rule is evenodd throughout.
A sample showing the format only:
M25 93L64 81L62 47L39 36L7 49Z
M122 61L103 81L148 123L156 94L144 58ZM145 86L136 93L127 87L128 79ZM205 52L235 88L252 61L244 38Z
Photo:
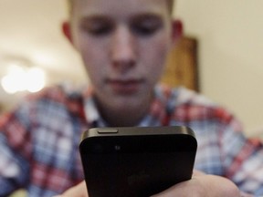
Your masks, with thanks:
M37 92L45 87L45 73L37 67L23 68L10 66L1 84L5 91L14 94L18 91Z

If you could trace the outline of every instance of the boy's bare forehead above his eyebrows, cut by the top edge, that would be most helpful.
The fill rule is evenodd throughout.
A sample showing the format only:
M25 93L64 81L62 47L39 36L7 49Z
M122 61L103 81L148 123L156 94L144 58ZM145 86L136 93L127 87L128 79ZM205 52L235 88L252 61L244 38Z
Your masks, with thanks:
M167 15L167 0L69 0L72 16L110 15L127 16L140 13Z

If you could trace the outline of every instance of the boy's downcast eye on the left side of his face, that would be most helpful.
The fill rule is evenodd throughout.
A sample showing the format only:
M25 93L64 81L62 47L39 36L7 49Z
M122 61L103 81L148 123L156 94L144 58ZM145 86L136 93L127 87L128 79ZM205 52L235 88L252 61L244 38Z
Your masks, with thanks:
M106 36L111 33L114 26L107 18L90 18L81 23L81 29L92 36Z

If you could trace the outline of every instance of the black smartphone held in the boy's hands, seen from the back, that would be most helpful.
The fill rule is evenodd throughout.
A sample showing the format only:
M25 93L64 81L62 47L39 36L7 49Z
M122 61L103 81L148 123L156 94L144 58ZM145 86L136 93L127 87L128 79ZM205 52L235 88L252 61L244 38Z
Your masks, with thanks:
M79 151L89 197L147 197L190 180L196 149L183 126L87 130Z

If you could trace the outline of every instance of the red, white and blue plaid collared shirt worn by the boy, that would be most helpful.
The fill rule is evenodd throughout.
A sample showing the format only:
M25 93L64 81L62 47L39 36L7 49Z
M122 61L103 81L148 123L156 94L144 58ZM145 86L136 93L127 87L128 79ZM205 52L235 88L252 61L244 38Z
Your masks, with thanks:
M80 91L79 91L80 92ZM139 126L184 125L198 141L195 169L222 175L240 190L263 194L263 149L244 138L229 112L185 88L155 88L149 114ZM92 91L47 88L0 119L0 196L25 188L52 196L83 180L79 137L106 126Z

